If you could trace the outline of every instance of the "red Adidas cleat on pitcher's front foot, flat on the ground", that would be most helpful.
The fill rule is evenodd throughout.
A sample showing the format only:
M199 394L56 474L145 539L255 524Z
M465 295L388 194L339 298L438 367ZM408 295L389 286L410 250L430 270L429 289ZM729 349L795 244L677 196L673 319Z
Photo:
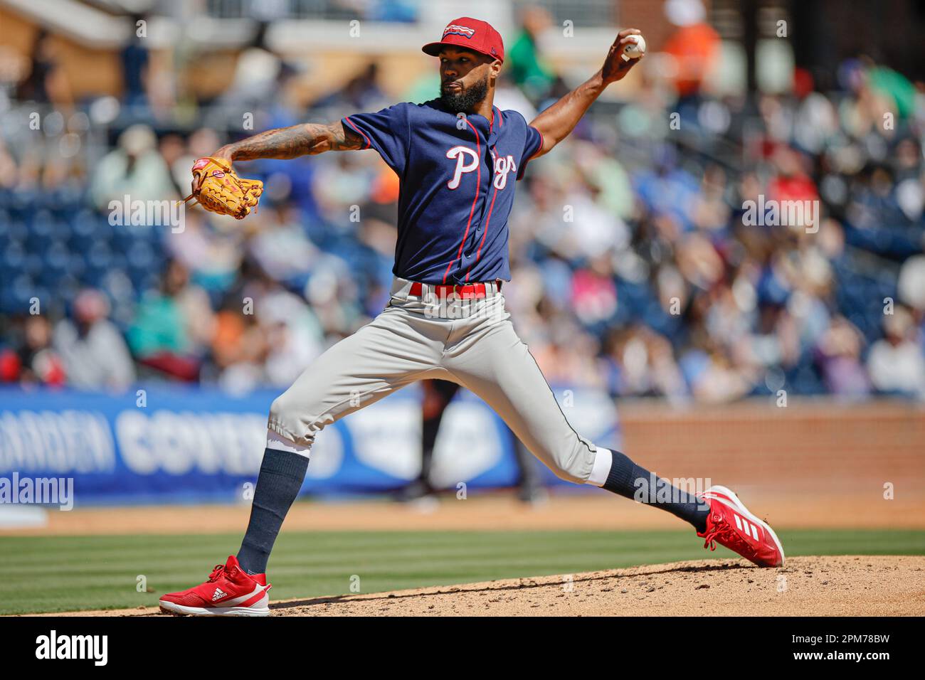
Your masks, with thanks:
M161 612L193 616L266 616L270 598L265 574L248 575L234 555L228 563L216 564L209 580L160 600Z

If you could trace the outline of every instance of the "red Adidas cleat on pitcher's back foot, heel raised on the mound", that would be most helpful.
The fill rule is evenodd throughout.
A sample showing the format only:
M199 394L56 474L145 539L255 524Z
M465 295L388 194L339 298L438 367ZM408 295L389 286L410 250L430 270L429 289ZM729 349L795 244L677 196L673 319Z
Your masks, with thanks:
M759 566L783 566L783 546L777 534L749 513L730 489L713 486L698 497L709 503L707 530L702 534L697 532L697 536L706 539L704 548L716 550L719 543Z

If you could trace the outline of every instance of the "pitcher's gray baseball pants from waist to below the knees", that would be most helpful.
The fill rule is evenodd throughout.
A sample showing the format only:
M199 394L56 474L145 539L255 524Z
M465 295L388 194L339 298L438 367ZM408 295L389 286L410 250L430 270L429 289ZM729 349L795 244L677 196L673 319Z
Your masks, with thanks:
M517 337L499 287L486 288L484 298L439 298L426 284L412 295L412 282L395 278L386 309L315 359L273 402L267 446L308 455L327 425L396 389L438 377L484 400L557 476L602 486L611 452L597 455L569 425Z

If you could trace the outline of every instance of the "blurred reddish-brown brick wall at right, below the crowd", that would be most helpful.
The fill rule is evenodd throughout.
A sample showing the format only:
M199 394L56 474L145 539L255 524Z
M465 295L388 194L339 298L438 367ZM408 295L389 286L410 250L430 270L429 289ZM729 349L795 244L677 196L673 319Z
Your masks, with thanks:
M620 408L627 455L664 476L727 486L925 498L925 405L755 401L674 409Z

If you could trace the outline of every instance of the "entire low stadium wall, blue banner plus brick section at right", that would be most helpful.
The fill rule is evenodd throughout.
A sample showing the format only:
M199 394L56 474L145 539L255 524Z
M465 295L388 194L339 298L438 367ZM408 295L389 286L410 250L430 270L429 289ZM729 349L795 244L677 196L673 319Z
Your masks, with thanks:
M803 502L925 502L925 407L752 400L677 407L555 389L573 426L672 479ZM0 390L0 477L71 476L78 504L235 502L253 482L276 392L152 387L125 395ZM141 404L141 405L140 405ZM302 493L381 493L419 470L420 393L403 389L322 432ZM512 486L512 439L475 396L450 405L435 451L444 488ZM564 484L544 469L549 484ZM574 488L571 485L566 485ZM577 488L575 488L577 489ZM861 505L858 505L861 507ZM910 506L911 507L911 506Z

